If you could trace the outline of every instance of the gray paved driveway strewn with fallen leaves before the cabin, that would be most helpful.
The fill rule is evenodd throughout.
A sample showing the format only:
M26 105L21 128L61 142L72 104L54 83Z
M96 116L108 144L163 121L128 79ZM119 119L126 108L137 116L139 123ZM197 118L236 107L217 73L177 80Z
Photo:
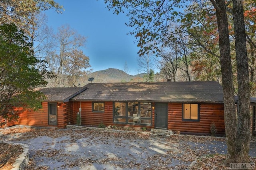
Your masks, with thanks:
M28 170L228 169L223 164L224 138L156 137L139 131L27 127L0 131L0 137L29 145ZM252 144L250 154L255 156L256 146ZM194 165L190 166L192 162Z

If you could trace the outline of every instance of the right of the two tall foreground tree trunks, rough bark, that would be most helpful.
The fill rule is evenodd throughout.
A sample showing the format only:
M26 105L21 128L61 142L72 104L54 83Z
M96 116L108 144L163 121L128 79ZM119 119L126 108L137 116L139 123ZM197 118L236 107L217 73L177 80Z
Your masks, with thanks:
M233 0L233 21L236 48L236 66L238 80L238 132L236 153L229 155L230 160L249 162L250 148L250 77L244 27L244 9L242 0Z

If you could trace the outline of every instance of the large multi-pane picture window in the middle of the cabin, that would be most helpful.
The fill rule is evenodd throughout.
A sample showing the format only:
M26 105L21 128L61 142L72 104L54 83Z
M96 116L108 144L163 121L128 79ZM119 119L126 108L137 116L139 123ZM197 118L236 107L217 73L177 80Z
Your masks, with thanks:
M148 102L114 102L113 114L115 123L152 123L152 106Z

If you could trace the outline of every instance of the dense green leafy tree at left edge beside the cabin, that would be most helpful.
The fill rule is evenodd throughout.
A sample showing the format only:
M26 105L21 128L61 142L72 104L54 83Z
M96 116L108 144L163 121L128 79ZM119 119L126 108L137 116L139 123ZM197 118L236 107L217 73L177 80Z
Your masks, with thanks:
M40 62L22 30L14 23L0 25L0 126L3 119L18 118L16 107L42 107L44 95L34 88L47 84L48 71L36 68Z

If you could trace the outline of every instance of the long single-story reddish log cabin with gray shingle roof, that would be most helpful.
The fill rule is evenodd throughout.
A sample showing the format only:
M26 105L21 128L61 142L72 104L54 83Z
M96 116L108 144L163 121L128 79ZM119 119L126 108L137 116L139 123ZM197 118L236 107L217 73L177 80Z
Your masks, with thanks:
M89 83L82 88L42 88L38 111L20 112L19 125L116 125L180 133L225 134L222 86L217 82Z

